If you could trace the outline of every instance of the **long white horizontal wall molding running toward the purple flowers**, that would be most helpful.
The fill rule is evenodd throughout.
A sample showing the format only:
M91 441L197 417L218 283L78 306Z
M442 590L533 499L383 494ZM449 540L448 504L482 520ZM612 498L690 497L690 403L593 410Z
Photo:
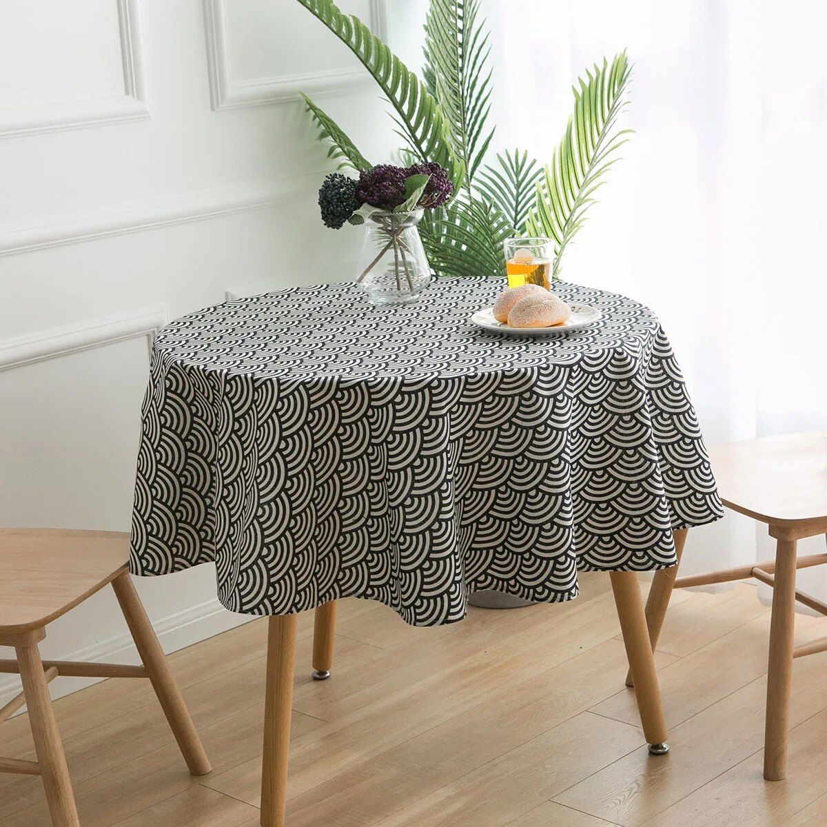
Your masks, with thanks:
M319 174L313 173L261 184L212 189L162 201L127 204L45 224L6 225L0 232L0 256L273 207L309 194L318 187L318 178Z

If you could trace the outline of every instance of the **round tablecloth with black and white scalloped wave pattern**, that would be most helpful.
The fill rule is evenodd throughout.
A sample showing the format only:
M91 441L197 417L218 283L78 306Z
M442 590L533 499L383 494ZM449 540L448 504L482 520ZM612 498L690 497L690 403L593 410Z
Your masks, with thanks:
M439 280L413 304L301 287L179 318L155 338L131 571L215 562L227 609L356 595L449 623L495 589L554 602L577 571L676 561L672 529L723 515L657 318L566 337L480 331L503 285Z

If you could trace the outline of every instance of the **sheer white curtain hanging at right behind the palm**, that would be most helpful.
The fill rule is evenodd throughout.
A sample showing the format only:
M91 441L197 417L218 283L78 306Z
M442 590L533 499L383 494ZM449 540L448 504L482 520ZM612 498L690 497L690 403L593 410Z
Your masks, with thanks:
M483 4L497 148L520 146L544 162L576 77L624 47L634 63L626 120L636 134L563 278L657 312L707 442L827 429L827 4ZM426 5L394 3L394 14L406 7L412 62ZM772 557L766 530L728 516L691 533L686 571L757 554Z

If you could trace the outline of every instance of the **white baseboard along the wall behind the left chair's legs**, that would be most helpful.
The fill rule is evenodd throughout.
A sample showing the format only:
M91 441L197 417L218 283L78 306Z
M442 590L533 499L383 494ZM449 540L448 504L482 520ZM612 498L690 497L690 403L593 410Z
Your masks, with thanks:
M251 620L255 620L255 617L227 611L217 598L213 598L184 611L169 614L155 621L153 625L165 653L170 654ZM64 661L140 663L135 644L128 633L116 635L74 652L53 655L52 658ZM102 680L106 679L59 677L50 683L50 694L52 700L57 700ZM0 707L12 700L19 691L20 679L17 676L3 677L0 680Z

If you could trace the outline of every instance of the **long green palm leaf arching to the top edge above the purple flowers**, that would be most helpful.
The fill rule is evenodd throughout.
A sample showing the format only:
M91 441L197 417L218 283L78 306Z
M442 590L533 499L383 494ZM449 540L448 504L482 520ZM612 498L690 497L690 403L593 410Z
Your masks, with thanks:
M356 15L345 15L332 0L299 0L324 23L370 72L390 101L409 146L422 161L437 161L458 188L464 165L452 151L447 127L428 89Z

